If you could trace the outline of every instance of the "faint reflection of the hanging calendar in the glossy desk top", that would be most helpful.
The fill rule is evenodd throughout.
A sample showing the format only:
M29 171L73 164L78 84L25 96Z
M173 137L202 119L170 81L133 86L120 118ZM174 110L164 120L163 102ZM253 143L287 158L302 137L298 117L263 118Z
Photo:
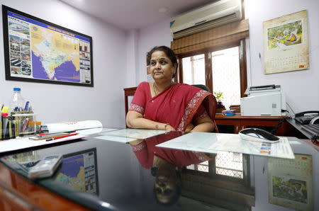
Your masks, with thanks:
M295 154L295 159L268 158L269 203L293 210L313 210L313 160Z

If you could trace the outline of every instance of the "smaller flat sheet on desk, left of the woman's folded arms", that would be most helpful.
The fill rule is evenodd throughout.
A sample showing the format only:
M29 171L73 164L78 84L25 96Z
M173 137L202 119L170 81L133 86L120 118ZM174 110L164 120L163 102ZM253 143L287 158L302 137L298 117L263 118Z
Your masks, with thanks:
M111 142L132 142L136 139L146 139L155 135L163 134L165 130L143 130L126 128L121 130L113 130L110 132L101 133L102 136L96 137L96 139L108 140Z

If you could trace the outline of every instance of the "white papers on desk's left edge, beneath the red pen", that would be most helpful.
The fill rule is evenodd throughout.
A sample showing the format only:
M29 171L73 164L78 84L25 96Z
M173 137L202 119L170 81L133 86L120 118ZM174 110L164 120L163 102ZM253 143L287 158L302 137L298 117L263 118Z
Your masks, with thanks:
M69 137L61 138L61 139L55 139L50 142L47 142L45 139L35 141L35 140L29 139L28 137L9 139L9 140L0 142L0 153L11 152L18 149L27 149L30 147L38 147L38 146L42 146L46 144L55 144L57 142L65 142L68 140L80 139L83 137L86 137L86 135L72 135Z

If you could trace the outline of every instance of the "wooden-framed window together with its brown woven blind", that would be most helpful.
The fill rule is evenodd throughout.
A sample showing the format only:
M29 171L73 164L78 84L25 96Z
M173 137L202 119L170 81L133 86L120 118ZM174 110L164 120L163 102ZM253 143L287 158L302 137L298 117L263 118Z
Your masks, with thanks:
M205 84L212 91L223 92L227 105L238 105L247 88L245 38L248 20L211 28L171 42L179 58L175 81Z

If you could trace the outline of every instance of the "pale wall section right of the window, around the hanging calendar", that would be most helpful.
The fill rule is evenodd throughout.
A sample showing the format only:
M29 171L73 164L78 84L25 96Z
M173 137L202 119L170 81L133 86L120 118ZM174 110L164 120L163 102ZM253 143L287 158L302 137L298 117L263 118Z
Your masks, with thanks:
M290 13L308 11L308 44L310 68L280 74L264 74L262 22ZM248 83L252 86L280 84L286 93L286 102L293 111L319 110L319 1L318 0L245 0L245 16L250 20L250 63ZM259 59L259 52L262 58ZM249 57L249 55L247 55Z

